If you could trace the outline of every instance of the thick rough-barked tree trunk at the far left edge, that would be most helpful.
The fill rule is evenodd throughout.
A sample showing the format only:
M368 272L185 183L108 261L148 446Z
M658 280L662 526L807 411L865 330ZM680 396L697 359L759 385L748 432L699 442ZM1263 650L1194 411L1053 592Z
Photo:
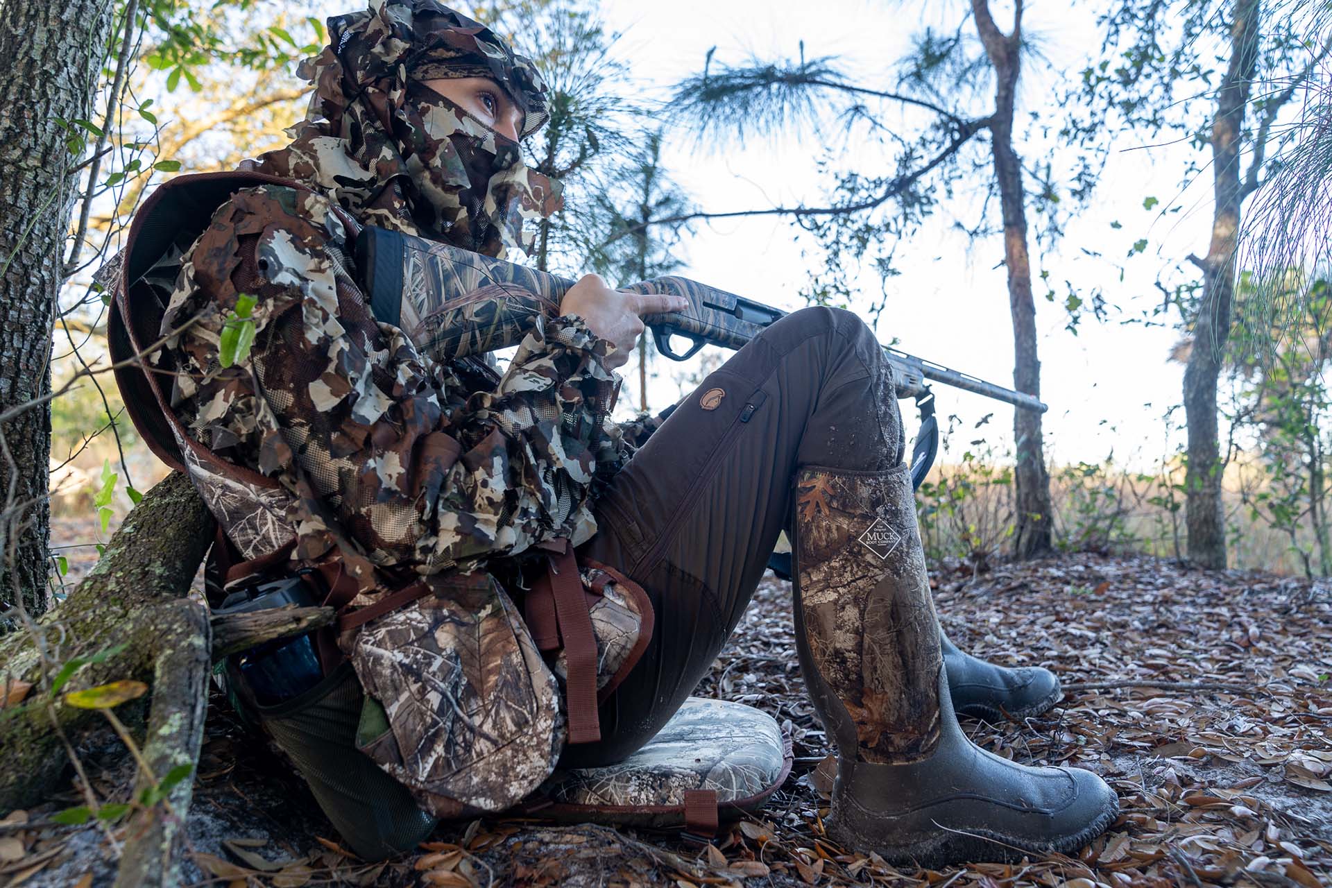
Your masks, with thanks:
M0 410L51 387L51 329L69 226L75 157L60 120L87 118L111 0L0 9ZM77 130L75 130L77 132ZM47 607L51 409L0 427L0 611Z

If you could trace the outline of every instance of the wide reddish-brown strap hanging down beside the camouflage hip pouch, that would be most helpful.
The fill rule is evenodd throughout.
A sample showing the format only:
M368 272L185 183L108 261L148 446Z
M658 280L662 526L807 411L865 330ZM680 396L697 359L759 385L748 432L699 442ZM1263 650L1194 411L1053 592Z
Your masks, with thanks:
M578 562L567 539L554 539L539 545L546 551L546 575L537 580L549 583L555 603L555 622L565 646L565 700L569 706L569 743L595 743L601 740L601 719L597 715L597 636L591 630L591 615L583 596Z

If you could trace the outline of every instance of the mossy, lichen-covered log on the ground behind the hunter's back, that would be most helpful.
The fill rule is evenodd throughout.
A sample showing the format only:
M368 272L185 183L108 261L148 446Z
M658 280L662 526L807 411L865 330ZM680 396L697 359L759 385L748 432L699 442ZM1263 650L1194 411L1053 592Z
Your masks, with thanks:
M61 738L103 727L95 710L64 694L117 680L152 688L117 710L131 731L147 724L135 797L177 766L198 762L208 706L212 628L201 602L185 598L213 538L213 518L180 474L168 475L112 537L97 566L49 614L0 639L0 684L31 684L0 718L0 811L33 805L61 788L71 766ZM181 827L193 779L164 803L139 808L125 831L117 885L178 881Z

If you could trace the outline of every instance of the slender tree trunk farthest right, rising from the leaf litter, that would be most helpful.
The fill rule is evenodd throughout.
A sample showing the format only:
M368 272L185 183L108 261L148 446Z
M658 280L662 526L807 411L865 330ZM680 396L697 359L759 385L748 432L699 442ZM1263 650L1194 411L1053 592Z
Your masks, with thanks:
M1216 97L1212 118L1212 241L1201 260L1203 298L1193 321L1193 347L1184 369L1184 417L1188 423L1188 471L1184 513L1188 558L1201 567L1225 567L1225 510L1216 422L1216 381L1231 334L1235 298L1235 245L1240 226L1240 152L1244 111L1257 67L1261 0L1236 0L1231 21L1231 60ZM1228 454L1227 454L1228 457Z

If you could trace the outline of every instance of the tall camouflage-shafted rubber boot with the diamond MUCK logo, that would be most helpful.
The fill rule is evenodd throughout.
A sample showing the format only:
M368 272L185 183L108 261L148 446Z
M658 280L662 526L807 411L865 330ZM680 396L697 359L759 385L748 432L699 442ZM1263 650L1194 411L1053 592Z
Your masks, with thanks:
M906 466L802 469L794 525L801 671L838 754L834 840L939 868L1071 852L1115 820L1090 771L1015 764L958 727Z

